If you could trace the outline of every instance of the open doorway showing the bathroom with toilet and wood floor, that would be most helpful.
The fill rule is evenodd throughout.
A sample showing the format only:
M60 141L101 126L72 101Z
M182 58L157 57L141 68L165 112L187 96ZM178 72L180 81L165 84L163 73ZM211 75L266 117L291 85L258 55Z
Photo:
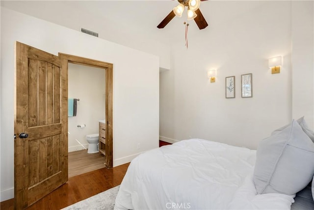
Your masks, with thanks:
M105 155L97 151L99 138L90 147L86 140L98 135L105 121L105 69L68 63L68 100L76 101L76 113L68 115L70 178L105 167Z

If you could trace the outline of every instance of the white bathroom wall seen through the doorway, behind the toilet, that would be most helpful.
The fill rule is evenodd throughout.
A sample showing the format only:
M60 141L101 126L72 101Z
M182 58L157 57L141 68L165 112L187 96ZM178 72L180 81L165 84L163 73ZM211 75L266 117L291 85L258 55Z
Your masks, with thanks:
M68 118L68 151L84 150L86 135L99 133L99 120L105 119L105 69L69 63L68 97L79 98L77 116Z

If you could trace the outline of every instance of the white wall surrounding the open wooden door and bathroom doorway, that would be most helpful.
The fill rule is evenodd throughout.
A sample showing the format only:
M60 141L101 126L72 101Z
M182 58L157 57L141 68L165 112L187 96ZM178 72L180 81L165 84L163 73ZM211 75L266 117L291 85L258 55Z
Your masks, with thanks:
M14 192L15 41L54 55L61 52L113 63L114 166L158 147L157 56L1 7L1 201L12 198Z

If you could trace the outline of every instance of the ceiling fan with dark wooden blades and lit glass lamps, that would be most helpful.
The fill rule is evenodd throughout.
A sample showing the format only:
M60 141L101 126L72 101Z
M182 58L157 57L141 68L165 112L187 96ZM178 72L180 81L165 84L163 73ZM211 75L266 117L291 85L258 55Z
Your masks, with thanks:
M175 16L181 17L184 8L187 7L187 20L194 19L198 28L205 29L208 26L201 10L199 9L201 1L205 0L178 0L179 5L173 8L173 10L163 19L159 25L158 29L163 29Z

